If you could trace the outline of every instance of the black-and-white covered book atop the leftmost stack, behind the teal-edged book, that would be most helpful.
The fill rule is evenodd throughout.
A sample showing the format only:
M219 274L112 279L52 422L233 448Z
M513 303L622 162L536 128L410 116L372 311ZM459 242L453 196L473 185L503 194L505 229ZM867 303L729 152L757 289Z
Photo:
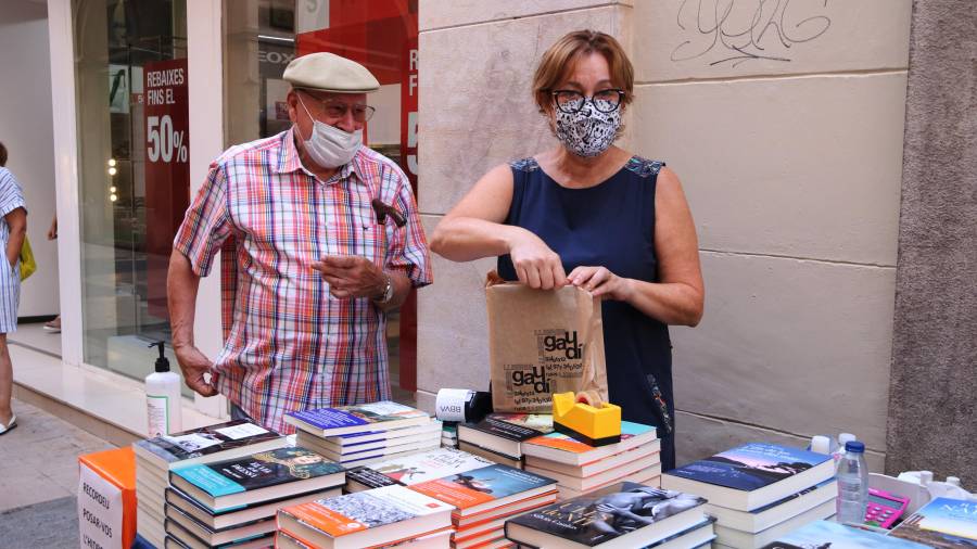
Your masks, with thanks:
M233 420L172 435L132 443L136 456L161 468L230 459L255 451L281 448L286 437L248 420Z

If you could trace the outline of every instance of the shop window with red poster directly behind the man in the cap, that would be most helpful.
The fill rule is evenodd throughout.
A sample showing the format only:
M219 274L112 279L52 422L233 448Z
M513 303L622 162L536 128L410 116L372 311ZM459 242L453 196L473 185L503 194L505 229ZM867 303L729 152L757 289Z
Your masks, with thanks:
M227 146L288 130L286 66L295 55L329 51L361 63L380 81L380 91L367 97L377 112L365 142L399 163L417 191L416 0L226 0L224 13ZM413 310L411 301L388 317L391 384L402 401L414 400L416 383L414 341L401 353L401 324L413 322ZM414 340L414 332L405 337ZM410 362L404 383L402 358Z

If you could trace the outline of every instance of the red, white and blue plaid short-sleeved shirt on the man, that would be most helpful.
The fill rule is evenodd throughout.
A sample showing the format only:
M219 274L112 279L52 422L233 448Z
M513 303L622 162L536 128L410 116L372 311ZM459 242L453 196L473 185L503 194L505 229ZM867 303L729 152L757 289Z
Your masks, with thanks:
M407 219L377 222L380 197ZM206 277L221 254L225 345L217 387L269 429L286 412L390 398L386 318L369 298L338 299L312 263L360 255L432 281L410 183L360 148L328 181L303 168L292 130L229 149L187 209L174 247Z

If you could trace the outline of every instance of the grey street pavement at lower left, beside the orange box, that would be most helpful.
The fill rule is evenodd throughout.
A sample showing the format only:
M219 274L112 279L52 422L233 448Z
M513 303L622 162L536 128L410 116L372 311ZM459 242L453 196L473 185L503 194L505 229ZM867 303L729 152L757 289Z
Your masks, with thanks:
M76 548L78 456L114 446L13 400L17 426L0 436L0 546Z

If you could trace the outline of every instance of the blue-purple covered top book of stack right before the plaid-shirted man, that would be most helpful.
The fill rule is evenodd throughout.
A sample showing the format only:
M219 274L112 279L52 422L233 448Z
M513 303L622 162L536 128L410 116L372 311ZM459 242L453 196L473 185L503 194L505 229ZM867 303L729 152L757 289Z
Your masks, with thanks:
M388 431L423 425L431 417L417 408L390 400L290 412L284 422L317 436Z

